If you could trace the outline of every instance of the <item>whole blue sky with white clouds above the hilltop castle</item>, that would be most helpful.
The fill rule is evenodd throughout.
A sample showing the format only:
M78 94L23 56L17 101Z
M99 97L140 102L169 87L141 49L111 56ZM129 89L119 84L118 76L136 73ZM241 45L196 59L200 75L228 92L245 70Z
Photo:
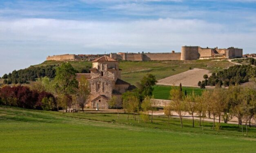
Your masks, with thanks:
M255 42L256 0L0 0L0 76L49 55Z

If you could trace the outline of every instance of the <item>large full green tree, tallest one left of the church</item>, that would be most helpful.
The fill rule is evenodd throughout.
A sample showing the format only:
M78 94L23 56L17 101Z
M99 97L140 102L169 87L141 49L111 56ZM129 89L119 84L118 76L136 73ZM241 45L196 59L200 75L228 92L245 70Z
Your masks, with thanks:
M75 94L78 89L78 81L76 80L76 70L70 63L63 63L60 67L56 68L56 77L54 78L54 87L58 93L58 102L62 107L68 104L67 99L69 95ZM64 99L63 99L64 98ZM64 101L60 101L64 100ZM64 112L64 111L63 111Z

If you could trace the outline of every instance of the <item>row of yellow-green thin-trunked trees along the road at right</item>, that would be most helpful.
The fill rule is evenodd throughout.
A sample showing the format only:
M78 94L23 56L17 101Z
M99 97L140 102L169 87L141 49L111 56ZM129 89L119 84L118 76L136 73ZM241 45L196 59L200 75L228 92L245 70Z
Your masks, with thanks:
M220 129L220 119L223 118L227 123L232 117L238 119L238 131L239 125L243 123L251 127L251 120L256 115L256 89L254 87L241 87L239 85L230 86L228 89L215 88L213 90L205 90L202 95L195 95L194 92L185 96L181 87L174 87L170 91L172 102L165 108L165 115L171 116L171 112L175 111L180 118L180 126L183 127L182 119L187 112L192 116L194 127L194 114L200 117L204 122L207 114L212 117L213 127ZM218 125L215 120L218 117ZM169 124L169 123L168 123ZM203 128L203 126L202 126Z

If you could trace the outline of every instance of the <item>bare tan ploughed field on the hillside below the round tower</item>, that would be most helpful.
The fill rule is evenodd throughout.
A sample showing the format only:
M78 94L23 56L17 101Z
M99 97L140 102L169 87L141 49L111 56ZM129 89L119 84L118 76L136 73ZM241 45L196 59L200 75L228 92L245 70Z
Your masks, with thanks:
M158 80L158 85L175 85L178 86L180 83L185 87L198 87L198 81L203 80L203 75L211 75L209 70L194 68L164 79Z

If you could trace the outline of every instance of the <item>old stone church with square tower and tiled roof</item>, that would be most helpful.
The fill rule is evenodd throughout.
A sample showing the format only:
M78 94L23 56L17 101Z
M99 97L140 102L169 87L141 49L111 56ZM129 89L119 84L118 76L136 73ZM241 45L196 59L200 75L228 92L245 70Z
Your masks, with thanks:
M90 71L90 74L77 74L78 81L82 76L89 81L91 95L87 107L107 109L113 96L117 97L118 107L121 107L122 93L134 86L121 80L119 62L105 55L92 61Z

